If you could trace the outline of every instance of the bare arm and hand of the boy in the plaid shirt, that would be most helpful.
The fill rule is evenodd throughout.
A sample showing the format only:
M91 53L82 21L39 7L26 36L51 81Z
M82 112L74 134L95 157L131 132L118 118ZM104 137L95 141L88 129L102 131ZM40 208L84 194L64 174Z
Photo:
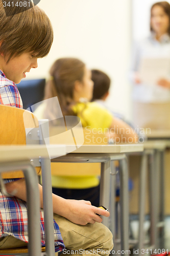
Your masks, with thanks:
M26 182L25 179L20 179L6 184L6 189L9 194L14 189L17 190L15 197L27 201ZM40 207L43 208L42 186L39 184L40 192ZM84 200L66 200L53 194L53 212L61 215L69 221L86 225L87 223L102 222L102 218L96 214L109 217L109 212L103 209L92 206L89 201Z

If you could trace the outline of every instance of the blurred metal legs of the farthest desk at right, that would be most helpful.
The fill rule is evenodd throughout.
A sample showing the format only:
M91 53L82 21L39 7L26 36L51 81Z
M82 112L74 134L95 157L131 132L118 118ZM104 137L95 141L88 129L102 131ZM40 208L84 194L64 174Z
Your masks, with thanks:
M166 144L166 143L165 143ZM131 241L137 244L139 249L150 250L164 249L164 152L166 145L144 149L141 155L140 168L140 188L139 188L139 232L138 240ZM151 220L151 246L144 248L144 208L145 208L145 180L147 179L147 169L149 161L150 175L150 220ZM160 229L160 243L158 242L158 228Z

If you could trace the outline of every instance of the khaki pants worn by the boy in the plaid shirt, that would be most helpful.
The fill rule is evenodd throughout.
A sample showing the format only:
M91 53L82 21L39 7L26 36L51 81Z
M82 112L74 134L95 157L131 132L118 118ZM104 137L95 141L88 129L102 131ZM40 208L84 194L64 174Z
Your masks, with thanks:
M60 227L66 249L62 255L109 255L113 248L113 238L110 230L102 223L95 222L85 226L74 224L67 219L54 215L54 219ZM12 236L0 238L0 249L27 246ZM81 250L80 250L81 249ZM80 250L80 252L79 252ZM74 251L74 252L73 252Z

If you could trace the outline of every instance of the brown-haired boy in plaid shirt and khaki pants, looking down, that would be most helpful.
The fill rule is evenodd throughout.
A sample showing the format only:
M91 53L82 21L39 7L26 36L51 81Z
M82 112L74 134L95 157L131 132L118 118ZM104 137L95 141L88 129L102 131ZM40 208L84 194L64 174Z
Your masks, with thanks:
M6 15L4 2L0 1L0 104L22 108L15 83L25 78L26 72L37 68L37 58L48 54L53 42L53 29L50 20L38 6L23 6L18 12L16 2L12 2L14 4ZM19 2L29 4L30 1ZM26 246L28 220L25 179L5 182L9 194L14 189L17 192L15 197L8 198L0 190L0 248ZM43 208L41 185L39 192L40 207ZM102 218L99 216L108 217L107 211L92 206L89 201L66 200L54 194L53 211L56 251L62 250L65 245L69 250L81 249L80 254L84 255L89 250L92 255L109 254L113 247L112 234L101 224ZM44 245L43 210L40 215L41 243Z

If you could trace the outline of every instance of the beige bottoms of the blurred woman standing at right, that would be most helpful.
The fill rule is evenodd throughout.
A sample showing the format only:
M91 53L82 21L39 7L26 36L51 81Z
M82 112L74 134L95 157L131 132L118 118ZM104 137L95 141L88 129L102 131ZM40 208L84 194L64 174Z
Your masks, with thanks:
M133 102L133 123L135 127L153 130L170 129L170 103Z

